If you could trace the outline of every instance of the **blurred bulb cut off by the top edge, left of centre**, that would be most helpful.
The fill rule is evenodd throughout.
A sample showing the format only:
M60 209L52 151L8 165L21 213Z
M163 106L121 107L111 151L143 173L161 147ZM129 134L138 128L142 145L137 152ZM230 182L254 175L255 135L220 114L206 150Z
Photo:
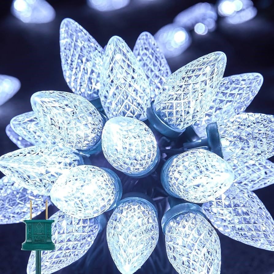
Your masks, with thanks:
M99 11L118 10L128 5L130 0L87 0L88 6Z

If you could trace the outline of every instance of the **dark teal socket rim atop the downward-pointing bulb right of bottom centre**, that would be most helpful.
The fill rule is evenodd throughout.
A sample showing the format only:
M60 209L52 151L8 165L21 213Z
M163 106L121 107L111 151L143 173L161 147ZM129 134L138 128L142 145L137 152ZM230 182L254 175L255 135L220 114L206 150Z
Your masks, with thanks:
M183 203L183 204L177 204L174 207L170 208L166 213L164 214L162 218L162 229L163 233L166 234L166 226L169 223L169 221L178 215L181 214L186 214L188 212L200 214L203 216L205 219L207 219L206 215L204 215L203 210L200 206L197 204L192 204L192 203Z

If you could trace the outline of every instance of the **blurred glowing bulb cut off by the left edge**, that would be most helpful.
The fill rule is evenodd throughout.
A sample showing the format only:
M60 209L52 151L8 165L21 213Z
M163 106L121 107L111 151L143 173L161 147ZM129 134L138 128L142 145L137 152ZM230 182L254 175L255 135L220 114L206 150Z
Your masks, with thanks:
M13 97L20 87L21 83L17 78L0 74L0 105Z

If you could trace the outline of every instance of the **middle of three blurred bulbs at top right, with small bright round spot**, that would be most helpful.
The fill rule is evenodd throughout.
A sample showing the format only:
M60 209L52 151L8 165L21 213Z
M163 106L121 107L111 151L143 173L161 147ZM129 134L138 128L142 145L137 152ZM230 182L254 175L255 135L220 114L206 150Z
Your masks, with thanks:
M174 18L174 22L185 29L194 29L197 34L204 35L215 29L217 17L214 5L198 3L180 12Z

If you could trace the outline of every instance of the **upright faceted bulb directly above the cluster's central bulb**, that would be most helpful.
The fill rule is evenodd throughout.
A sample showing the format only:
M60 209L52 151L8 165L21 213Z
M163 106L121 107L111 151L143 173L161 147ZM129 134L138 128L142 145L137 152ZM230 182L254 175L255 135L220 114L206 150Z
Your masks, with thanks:
M145 72L125 41L113 36L105 49L99 96L108 118L146 120L150 87Z

